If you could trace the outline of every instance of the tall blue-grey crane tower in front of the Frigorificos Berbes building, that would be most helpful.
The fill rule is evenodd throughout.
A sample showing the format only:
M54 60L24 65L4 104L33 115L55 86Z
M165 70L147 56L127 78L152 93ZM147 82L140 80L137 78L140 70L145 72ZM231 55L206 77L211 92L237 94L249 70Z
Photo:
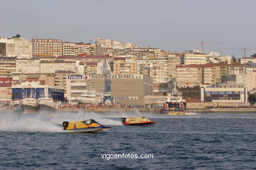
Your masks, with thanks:
M110 71L108 71L107 63L106 63L106 59L105 59L103 66L102 66L102 73L104 75L104 81L105 81L102 103L106 103L107 101L109 101L110 102L109 104L111 104L113 102L113 98L111 96L111 80L110 80L110 78L108 78L108 75L110 75L109 72Z

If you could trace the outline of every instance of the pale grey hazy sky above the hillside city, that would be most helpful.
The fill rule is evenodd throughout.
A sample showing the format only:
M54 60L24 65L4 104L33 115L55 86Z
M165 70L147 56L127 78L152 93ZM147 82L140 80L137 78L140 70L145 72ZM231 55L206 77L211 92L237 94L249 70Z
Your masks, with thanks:
M93 38L179 51L201 49L241 58L256 53L256 1L1 1L0 37L89 42Z

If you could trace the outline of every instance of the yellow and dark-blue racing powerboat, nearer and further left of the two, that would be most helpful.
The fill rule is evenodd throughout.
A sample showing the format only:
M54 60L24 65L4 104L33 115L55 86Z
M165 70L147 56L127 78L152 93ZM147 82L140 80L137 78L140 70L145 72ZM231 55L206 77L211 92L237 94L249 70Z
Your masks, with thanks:
M79 133L98 133L100 131L106 131L111 127L106 127L93 119L82 120L78 122L63 122L62 127L67 132L79 132Z

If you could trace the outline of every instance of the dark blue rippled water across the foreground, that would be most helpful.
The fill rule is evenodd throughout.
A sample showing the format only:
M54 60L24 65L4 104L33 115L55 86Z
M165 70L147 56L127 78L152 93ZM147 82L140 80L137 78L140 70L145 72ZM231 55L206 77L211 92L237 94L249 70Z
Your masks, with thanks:
M256 169L255 114L148 114L158 122L150 126L114 126L120 119L108 114L113 128L97 134L59 132L58 116L0 116L0 169ZM54 132L28 129L33 122ZM105 153L154 158L106 160Z

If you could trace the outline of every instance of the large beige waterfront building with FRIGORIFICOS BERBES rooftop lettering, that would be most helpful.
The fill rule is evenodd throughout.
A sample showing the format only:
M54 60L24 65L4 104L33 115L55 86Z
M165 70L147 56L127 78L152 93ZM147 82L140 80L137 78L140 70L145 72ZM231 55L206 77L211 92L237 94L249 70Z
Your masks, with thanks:
M108 75L111 80L111 93L116 103L144 105L144 96L152 95L153 79L146 75ZM81 95L95 90L103 93L104 75L70 75L66 80L67 99L77 102Z

